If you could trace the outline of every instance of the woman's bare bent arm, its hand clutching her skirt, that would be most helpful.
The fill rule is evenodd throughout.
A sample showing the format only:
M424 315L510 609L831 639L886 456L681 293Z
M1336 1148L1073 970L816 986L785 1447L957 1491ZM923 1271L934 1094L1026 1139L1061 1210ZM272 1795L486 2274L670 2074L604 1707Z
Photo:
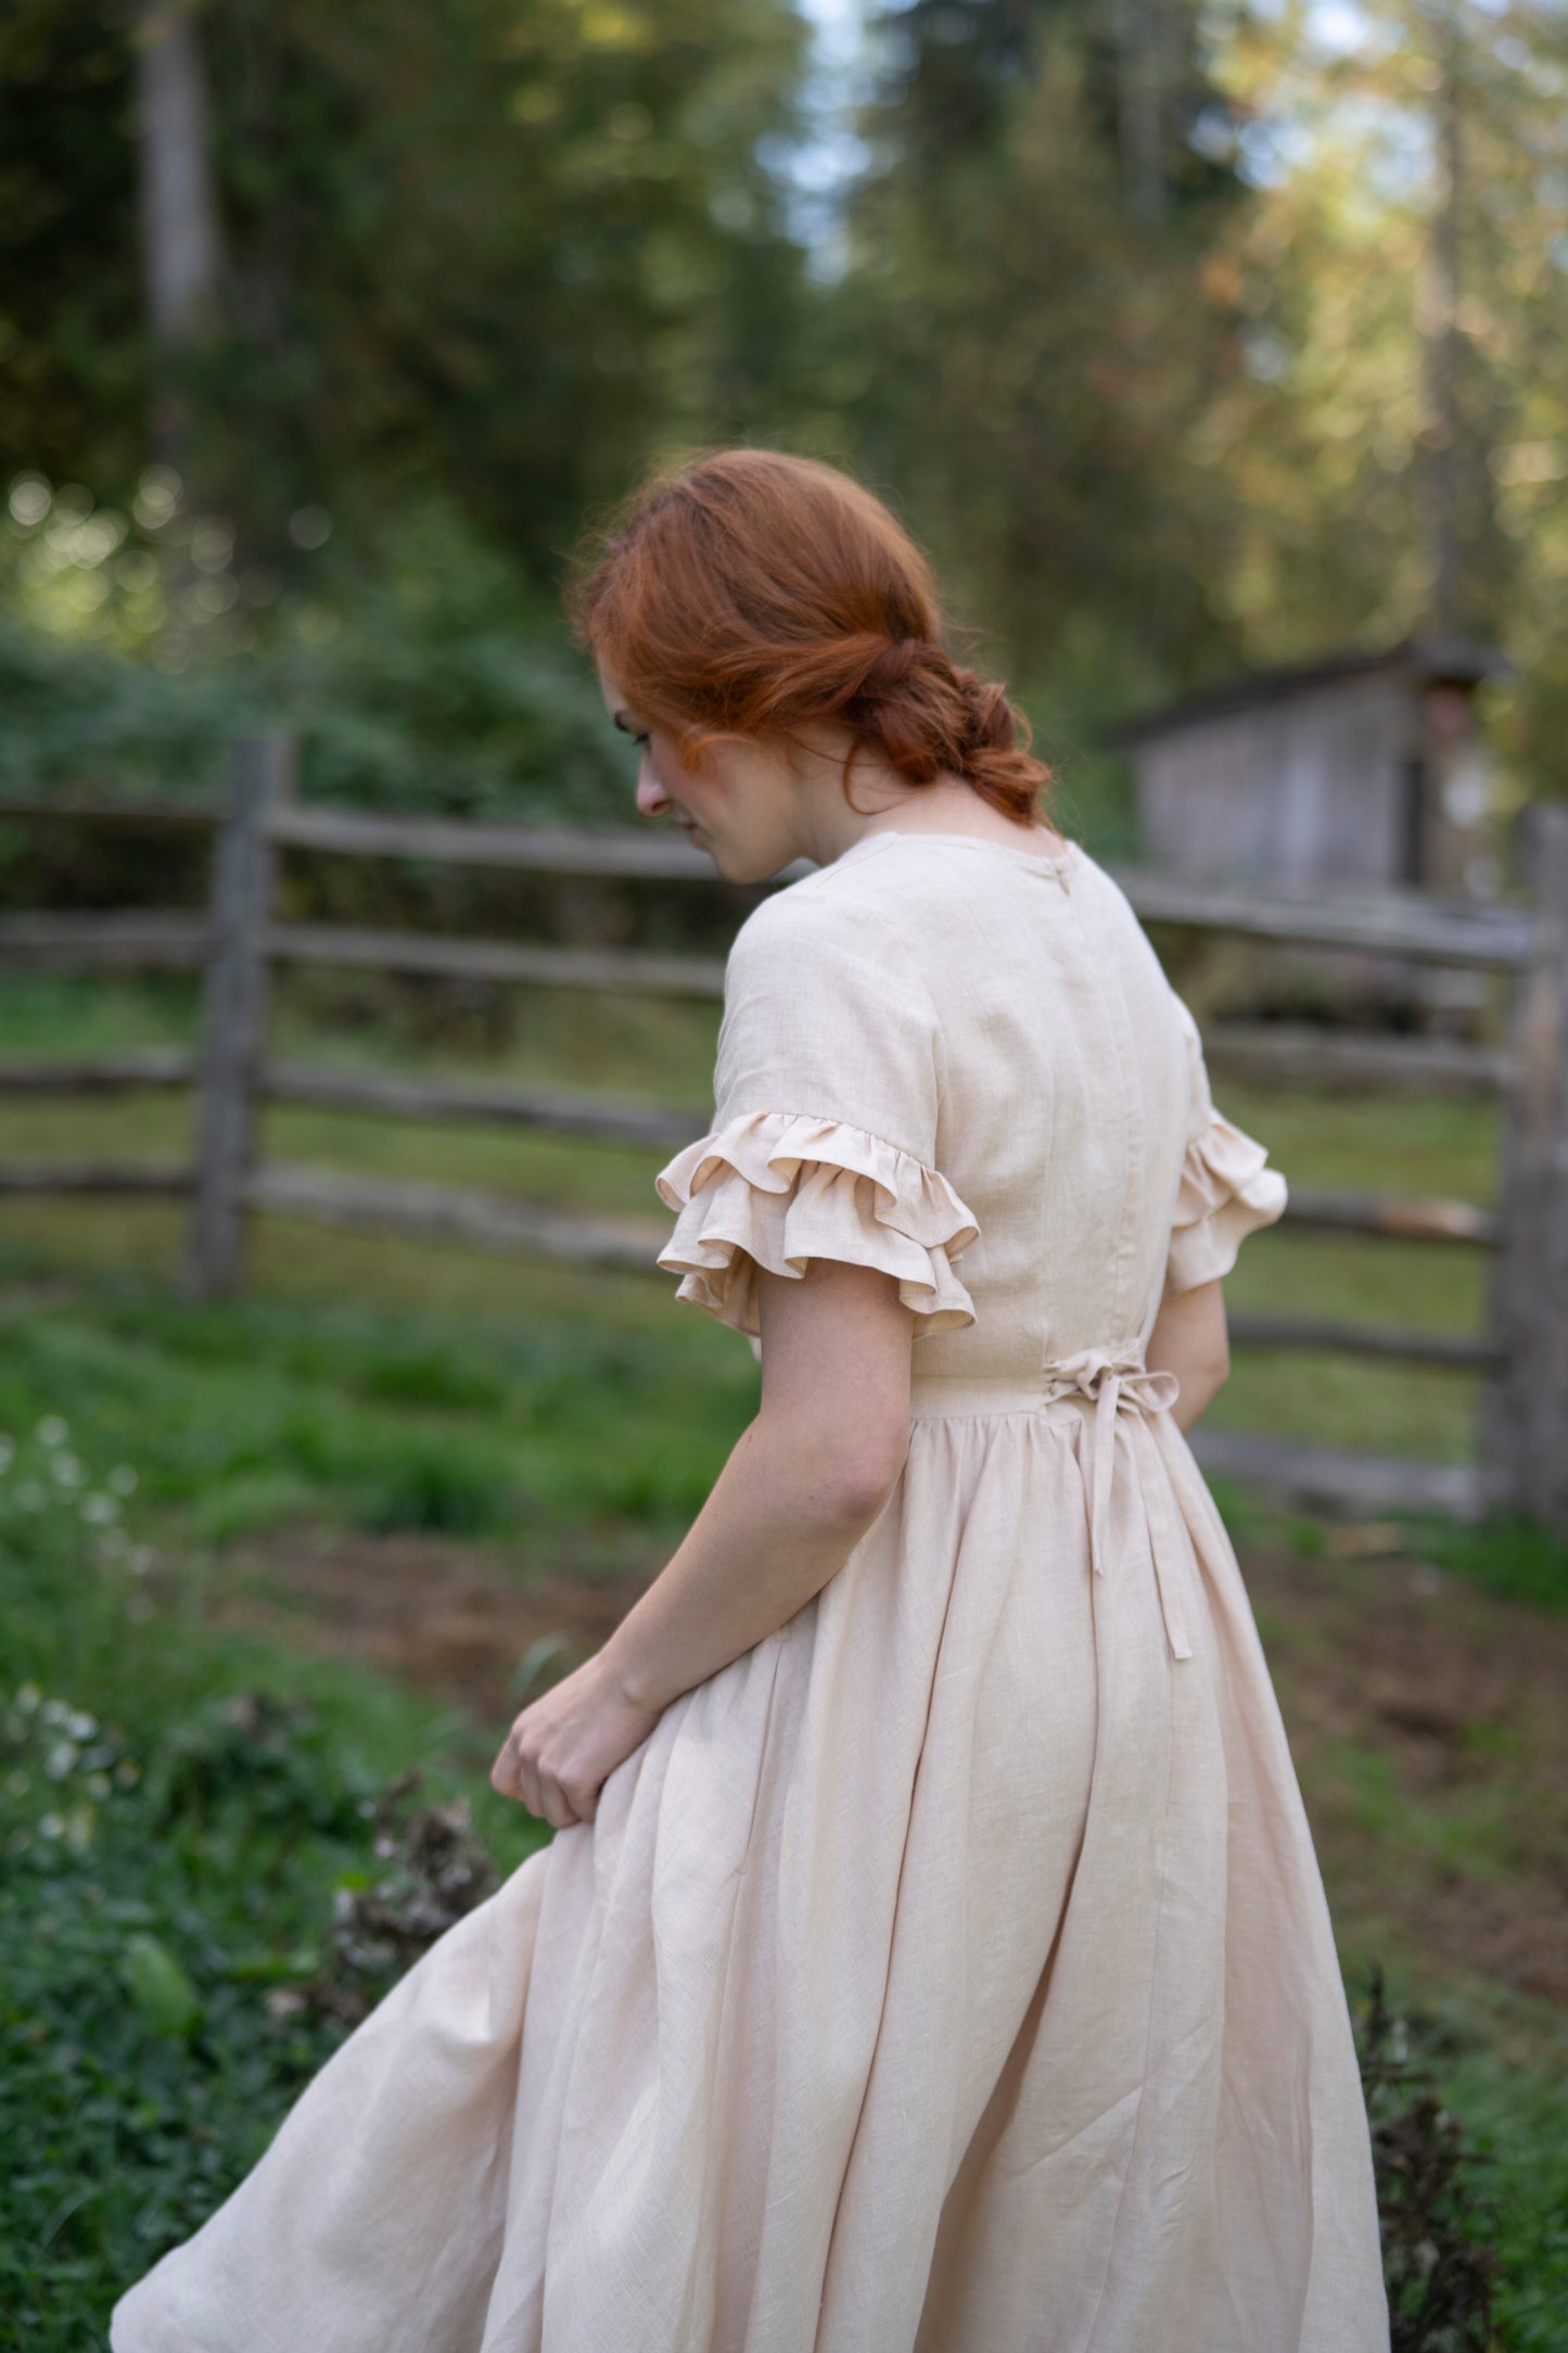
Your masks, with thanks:
M682 1692L755 1649L837 1577L910 1442L914 1318L893 1275L813 1259L759 1273L762 1405L689 1534L585 1666L524 1708L494 1786L555 1828Z

